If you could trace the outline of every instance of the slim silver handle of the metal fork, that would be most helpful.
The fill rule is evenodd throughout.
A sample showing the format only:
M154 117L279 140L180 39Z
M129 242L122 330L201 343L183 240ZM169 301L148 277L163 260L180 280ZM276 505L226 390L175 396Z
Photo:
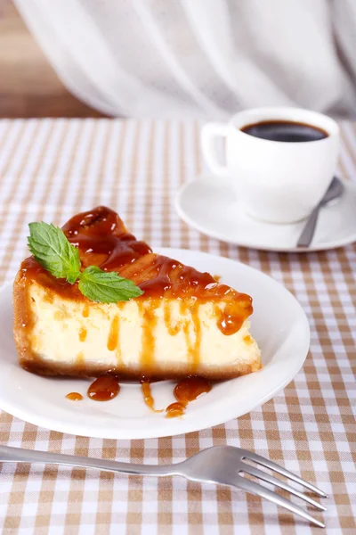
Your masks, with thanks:
M128 473L130 475L165 476L177 474L176 465L135 465L107 459L93 459L77 455L65 455L37 451L36 449L0 446L0 462L4 463L45 463L50 465L69 465L83 468L96 468L107 472Z

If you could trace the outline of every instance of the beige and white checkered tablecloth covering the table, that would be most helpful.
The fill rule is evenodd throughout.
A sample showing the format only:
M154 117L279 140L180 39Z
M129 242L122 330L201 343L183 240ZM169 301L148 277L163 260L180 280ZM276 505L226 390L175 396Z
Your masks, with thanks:
M344 123L342 131L339 173L356 179L356 128ZM172 202L179 185L202 168L198 136L199 125L190 121L1 120L0 282L12 280L26 254L29 221L61 224L79 210L107 204L153 247L239 259L285 284L312 329L302 371L263 407L201 432L158 440L88 439L3 412L0 443L133 463L171 463L213 445L241 446L326 490L328 533L354 535L356 245L300 255L259 252L209 239L183 224ZM180 478L1 463L0 472L4 534L320 532L242 491Z

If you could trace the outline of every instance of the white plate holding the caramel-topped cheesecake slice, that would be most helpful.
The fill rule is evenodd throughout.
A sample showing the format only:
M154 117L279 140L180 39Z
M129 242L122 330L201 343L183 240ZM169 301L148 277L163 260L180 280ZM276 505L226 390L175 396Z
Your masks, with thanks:
M263 352L263 369L215 384L190 403L182 418L155 414L142 401L139 384L123 383L116 399L98 402L85 396L89 381L40 377L18 364L12 338L12 287L0 292L0 407L31 424L59 432L108 439L145 439L198 431L259 407L294 378L309 349L309 325L293 295L271 277L231 259L197 251L161 249L254 298L252 333ZM174 401L174 383L152 385L157 408ZM83 401L69 401L71 391Z

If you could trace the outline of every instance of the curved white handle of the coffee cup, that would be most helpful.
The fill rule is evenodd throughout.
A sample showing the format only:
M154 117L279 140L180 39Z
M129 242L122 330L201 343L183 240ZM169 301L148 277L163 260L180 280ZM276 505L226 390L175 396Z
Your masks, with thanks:
M224 123L207 123L201 130L201 151L208 168L218 177L229 177L226 165L220 163L216 152L216 137L226 137L229 132L228 125Z

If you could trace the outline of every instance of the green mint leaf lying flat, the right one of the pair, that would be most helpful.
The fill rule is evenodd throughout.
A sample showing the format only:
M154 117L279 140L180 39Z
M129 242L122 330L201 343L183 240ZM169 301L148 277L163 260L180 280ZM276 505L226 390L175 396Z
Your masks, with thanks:
M115 271L102 271L97 266L85 268L80 274L79 290L90 300L100 303L117 303L142 295L133 281L118 276Z

